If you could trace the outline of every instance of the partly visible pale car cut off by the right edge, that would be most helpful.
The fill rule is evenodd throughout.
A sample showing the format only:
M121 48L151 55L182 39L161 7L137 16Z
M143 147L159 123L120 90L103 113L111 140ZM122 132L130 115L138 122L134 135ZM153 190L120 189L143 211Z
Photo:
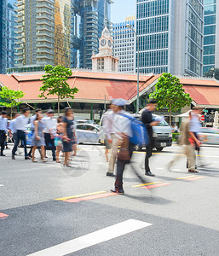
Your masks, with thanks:
M199 132L203 144L219 145L219 129L203 127Z

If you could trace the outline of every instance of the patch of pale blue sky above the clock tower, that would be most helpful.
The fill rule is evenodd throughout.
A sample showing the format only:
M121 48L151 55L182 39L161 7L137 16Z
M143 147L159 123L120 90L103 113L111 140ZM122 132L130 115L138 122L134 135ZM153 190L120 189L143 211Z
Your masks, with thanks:
M136 0L112 0L111 20L113 23L123 22L126 16L135 15Z

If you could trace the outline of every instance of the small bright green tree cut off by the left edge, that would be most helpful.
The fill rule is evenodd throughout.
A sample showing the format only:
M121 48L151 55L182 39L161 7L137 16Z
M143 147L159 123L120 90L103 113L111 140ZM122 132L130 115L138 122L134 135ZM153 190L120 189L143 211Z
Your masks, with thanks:
M0 90L0 97L3 99L3 102L1 102L2 106L5 106L7 108L11 108L11 118L12 113L14 110L14 107L19 107L19 105L22 103L20 102L20 99L25 96L25 93L23 93L22 90L11 90L6 86L3 86Z

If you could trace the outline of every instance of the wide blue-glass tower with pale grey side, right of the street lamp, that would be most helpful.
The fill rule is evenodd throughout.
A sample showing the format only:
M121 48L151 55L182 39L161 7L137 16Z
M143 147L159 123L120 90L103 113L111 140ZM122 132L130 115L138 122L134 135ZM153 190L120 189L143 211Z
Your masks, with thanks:
M140 72L202 75L203 0L137 0Z

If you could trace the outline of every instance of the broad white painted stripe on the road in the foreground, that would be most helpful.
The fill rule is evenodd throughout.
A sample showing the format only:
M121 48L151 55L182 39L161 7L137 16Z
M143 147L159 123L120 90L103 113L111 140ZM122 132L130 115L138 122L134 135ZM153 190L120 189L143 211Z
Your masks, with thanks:
M87 247L94 246L103 241L109 241L118 236L124 236L136 230L141 230L151 226L147 222L142 222L135 219L129 219L124 222L114 224L102 230L97 230L85 236L80 236L76 239L63 242L55 247L49 247L43 251L32 253L27 256L63 256L69 253L75 253Z

